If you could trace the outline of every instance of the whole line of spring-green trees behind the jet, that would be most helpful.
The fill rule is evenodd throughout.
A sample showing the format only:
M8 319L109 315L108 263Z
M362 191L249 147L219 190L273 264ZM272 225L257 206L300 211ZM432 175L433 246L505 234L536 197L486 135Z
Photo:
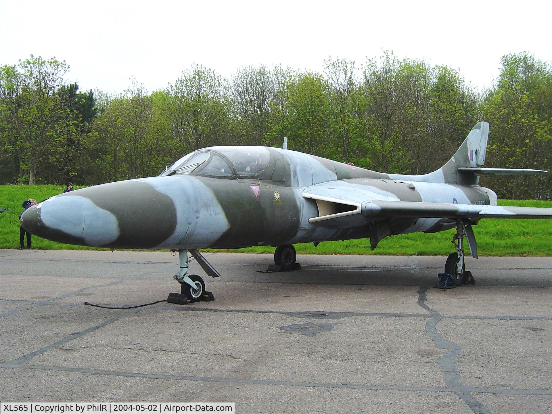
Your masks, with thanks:
M385 52L322 73L200 65L160 91L131 79L120 95L79 91L65 61L0 67L0 183L98 184L155 176L212 145L282 146L360 167L421 174L444 164L479 120L486 166L552 170L552 71L527 53L502 57L478 92L460 73ZM482 178L499 197L550 199L552 176Z

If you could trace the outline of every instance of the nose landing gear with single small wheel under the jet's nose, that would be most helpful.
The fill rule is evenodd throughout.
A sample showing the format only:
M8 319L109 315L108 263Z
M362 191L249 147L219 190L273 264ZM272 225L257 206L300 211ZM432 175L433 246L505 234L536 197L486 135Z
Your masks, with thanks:
M211 266L211 264L201 256L195 249L190 249L190 253L199 263L199 266L205 270L210 277L220 278L219 272ZM200 300L205 300L208 292L205 291L205 282L197 274L188 275L188 251L187 250L178 250L178 256L180 259L180 268L178 273L173 276L178 283L181 284L180 291L183 295L188 298L190 302L199 302ZM210 295L212 298L212 295Z

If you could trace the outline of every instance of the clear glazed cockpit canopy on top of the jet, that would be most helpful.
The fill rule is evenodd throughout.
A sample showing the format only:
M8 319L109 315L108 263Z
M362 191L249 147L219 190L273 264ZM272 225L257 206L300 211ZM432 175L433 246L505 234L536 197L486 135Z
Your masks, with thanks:
M160 176L190 174L217 178L258 178L270 162L265 147L209 147L185 155Z

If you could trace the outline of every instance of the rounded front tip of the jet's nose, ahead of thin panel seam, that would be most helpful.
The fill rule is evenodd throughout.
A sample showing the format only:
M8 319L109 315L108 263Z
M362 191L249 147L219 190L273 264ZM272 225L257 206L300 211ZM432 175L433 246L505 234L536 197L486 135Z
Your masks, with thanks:
M21 225L31 234L62 243L82 244L84 210L79 197L55 196L28 208Z

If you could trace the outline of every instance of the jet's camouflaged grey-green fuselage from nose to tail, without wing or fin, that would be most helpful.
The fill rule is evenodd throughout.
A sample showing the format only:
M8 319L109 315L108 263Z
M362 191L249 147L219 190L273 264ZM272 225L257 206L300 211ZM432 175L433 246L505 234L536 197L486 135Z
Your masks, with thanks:
M401 176L271 147L194 151L161 176L113 182L51 197L25 211L40 237L108 248L239 248L369 237L367 225L309 222L320 205L304 197L332 182L362 188L373 200L496 204L475 184L447 184L438 174ZM412 188L414 187L414 188ZM389 234L440 231L446 217L389 220Z

